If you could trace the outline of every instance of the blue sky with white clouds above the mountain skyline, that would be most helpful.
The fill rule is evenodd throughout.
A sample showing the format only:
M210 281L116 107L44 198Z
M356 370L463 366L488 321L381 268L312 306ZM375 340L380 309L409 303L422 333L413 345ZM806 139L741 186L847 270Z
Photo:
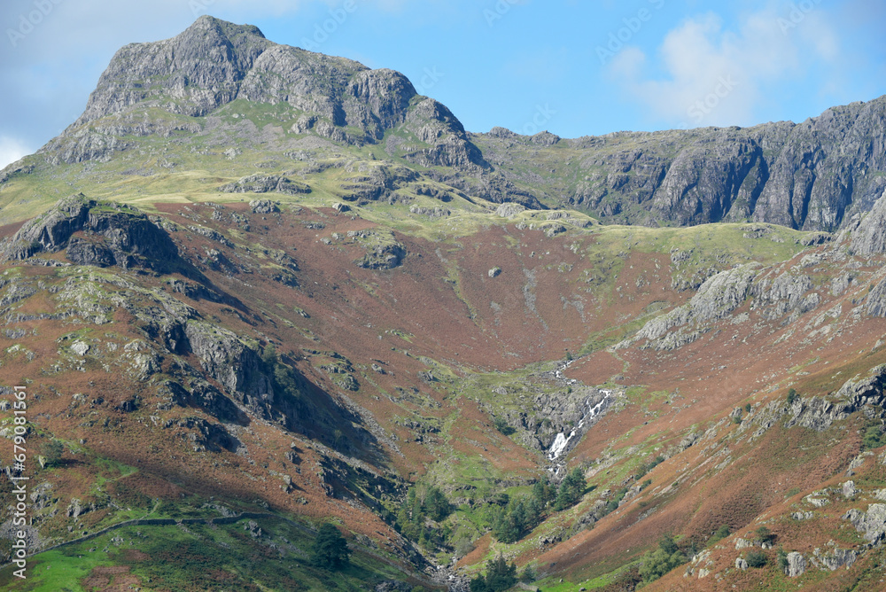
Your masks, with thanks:
M4 0L0 167L74 121L114 51L200 14L389 67L466 129L803 121L886 94L877 0ZM323 29L326 29L325 31Z

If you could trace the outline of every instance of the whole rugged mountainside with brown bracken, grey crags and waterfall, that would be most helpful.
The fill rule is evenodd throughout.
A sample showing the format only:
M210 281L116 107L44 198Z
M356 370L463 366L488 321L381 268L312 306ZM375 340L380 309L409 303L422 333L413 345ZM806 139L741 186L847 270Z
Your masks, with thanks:
M128 45L0 173L0 587L882 589L882 105L478 135Z

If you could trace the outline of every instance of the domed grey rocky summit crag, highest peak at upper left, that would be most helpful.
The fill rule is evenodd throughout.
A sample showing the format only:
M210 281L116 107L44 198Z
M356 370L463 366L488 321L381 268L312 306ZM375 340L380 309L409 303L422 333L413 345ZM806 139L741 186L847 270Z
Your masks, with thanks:
M168 135L182 128L129 117L136 105L198 118L245 99L303 112L292 133L361 145L375 144L386 130L404 125L426 144L408 151L409 160L488 167L455 115L430 98L414 97L412 83L393 70L369 70L346 58L278 45L257 27L203 16L172 39L120 49L81 117L40 152L56 164L110 160L114 152L132 147L124 137ZM185 128L195 131L201 125Z

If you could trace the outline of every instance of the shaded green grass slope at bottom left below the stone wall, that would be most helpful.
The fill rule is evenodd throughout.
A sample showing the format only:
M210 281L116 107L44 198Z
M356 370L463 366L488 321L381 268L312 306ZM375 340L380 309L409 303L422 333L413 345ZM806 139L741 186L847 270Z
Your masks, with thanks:
M27 580L14 578L12 566L6 567L0 571L0 588L15 592L87 592L88 588L82 585L84 578L97 567L112 565L128 568L128 573L135 575L146 589L183 592L362 590L372 582L404 579L399 569L361 549L354 552L351 565L344 572L324 572L308 561L307 552L313 541L309 531L284 521L257 522L263 531L259 539L245 530L246 521L215 528L121 528L30 557ZM123 542L113 542L115 537Z

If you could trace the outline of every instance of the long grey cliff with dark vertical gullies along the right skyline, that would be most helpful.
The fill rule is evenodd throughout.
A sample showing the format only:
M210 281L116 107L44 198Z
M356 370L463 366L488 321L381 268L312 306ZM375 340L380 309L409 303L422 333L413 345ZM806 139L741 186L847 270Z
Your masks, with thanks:
M884 119L886 97L800 124L561 140L556 147L571 149L565 158L579 161L579 170L548 170L534 181L513 167L532 167L531 138L496 129L475 141L509 181L532 183L550 200L612 222L753 220L833 231L870 210L886 188Z

